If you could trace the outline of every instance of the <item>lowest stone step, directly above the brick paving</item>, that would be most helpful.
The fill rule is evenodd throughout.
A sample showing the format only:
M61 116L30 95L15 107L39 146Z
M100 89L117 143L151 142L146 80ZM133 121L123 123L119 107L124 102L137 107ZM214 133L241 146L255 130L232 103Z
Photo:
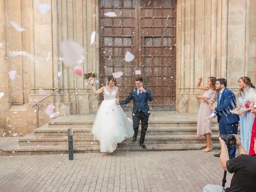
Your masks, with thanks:
M114 153L119 151L159 151L159 150L199 150L202 144L147 144L143 149L138 145L119 145ZM220 149L220 144L212 144L213 149ZM74 159L76 153L93 153L100 152L99 145L79 145L74 146ZM46 154L67 154L68 146L66 145L48 145L48 146L8 146L1 149L1 155L46 155Z

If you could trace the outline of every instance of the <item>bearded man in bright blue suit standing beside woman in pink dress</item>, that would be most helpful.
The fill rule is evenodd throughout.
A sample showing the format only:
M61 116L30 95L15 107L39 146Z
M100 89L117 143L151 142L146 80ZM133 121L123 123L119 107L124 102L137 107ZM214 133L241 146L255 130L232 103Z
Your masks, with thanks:
M236 108L236 96L232 91L226 88L226 79L220 78L216 80L216 90L219 91L217 96L217 107L209 107L213 114L209 116L209 119L218 117L220 134L237 134L239 116L231 114L230 110ZM220 154L214 154L219 157ZM229 152L229 157L234 158L236 156L236 146L232 146Z

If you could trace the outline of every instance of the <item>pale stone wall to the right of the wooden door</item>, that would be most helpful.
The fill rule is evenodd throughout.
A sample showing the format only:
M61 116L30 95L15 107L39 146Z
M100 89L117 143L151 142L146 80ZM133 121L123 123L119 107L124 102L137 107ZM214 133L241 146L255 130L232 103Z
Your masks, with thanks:
M180 0L177 4L177 110L197 112L199 77L226 78L237 90L241 76L256 82L254 0Z

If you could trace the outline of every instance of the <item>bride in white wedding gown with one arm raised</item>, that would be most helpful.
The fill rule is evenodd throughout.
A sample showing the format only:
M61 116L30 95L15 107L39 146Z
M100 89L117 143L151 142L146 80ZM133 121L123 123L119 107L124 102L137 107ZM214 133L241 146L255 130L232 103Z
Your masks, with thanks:
M119 91L113 76L108 77L107 86L96 90L93 85L92 91L94 94L104 94L92 126L92 134L100 142L100 152L112 153L118 143L133 136L132 120L126 117L119 106Z

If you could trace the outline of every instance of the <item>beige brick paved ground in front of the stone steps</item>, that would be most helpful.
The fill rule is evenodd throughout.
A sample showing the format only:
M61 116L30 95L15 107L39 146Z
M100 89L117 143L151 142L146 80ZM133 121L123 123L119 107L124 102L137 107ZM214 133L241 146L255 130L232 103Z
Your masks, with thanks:
M75 154L73 161L67 154L0 156L0 192L201 192L208 183L221 184L216 152L119 151Z

